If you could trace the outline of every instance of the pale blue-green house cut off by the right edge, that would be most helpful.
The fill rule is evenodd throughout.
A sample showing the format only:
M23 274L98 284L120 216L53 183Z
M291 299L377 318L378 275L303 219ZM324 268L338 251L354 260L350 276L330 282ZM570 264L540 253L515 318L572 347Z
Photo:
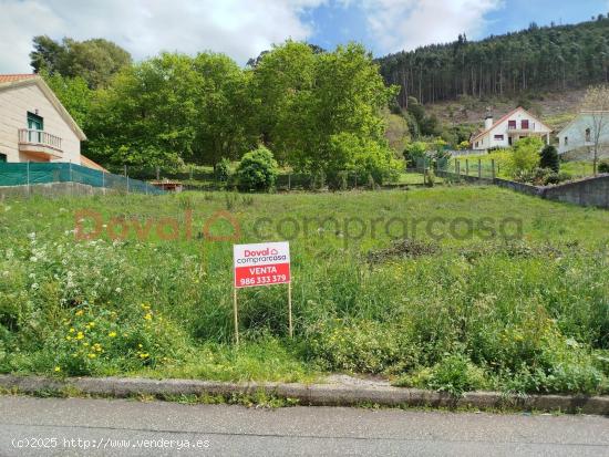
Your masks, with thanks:
M582 111L558 133L558 154L577 149L586 152L592 147L596 128L599 125L601 127L599 145L602 149L607 149L609 146L609 112Z

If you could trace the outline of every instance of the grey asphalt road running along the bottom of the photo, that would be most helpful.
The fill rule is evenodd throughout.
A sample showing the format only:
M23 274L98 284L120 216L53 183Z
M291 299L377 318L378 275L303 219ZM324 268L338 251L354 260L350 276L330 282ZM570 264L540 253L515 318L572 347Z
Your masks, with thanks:
M0 456L609 456L609 418L0 396Z

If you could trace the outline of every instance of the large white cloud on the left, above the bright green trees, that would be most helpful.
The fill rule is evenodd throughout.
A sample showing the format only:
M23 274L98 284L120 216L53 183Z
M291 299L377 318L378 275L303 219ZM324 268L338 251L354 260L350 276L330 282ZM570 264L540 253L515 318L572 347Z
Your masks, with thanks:
M0 73L30 72L33 35L105 38L135 59L161 50L224 52L239 63L287 38L307 39L299 13L326 0L0 0Z

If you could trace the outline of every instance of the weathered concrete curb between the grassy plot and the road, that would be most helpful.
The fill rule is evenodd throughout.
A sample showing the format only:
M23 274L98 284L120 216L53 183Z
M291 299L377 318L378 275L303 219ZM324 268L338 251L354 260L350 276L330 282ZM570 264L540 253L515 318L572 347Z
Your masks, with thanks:
M504 395L497 392L469 392L460 398L445 393L385 385L221 383L196 380L148 380L131 377L69 377L0 375L0 387L33 394L42 391L75 390L90 395L127 397L148 395L223 395L252 394L296 398L302 405L358 406L432 406L474 407L481 409L508 407L514 409L561 411L566 413L609 415L609 396Z

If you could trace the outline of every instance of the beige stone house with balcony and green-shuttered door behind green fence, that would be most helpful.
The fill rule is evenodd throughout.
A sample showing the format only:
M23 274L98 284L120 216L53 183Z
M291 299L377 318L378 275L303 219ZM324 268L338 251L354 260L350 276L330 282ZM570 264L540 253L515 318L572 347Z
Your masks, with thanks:
M0 74L0 162L65 162L103 169L81 154L85 139L42 77Z

